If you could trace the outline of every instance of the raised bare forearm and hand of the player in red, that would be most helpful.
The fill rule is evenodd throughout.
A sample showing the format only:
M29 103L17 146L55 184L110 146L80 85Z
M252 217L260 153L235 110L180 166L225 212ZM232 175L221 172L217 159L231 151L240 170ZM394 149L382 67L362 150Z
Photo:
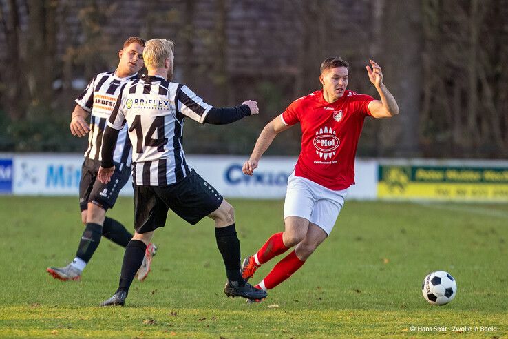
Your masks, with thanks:
M370 60L370 66L366 66L370 82L376 88L381 100L374 100L369 103L368 110L374 118L390 118L399 114L399 105L397 105L392 93L383 83L383 72L381 67Z

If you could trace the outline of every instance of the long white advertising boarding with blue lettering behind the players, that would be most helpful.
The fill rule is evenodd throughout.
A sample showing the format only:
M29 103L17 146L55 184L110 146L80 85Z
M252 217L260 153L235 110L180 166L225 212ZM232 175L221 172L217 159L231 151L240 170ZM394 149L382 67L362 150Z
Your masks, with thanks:
M4 154L5 155L5 154ZM12 193L15 195L77 196L81 178L81 154L7 154L12 158ZM242 173L247 156L187 156L187 163L222 195L231 198L284 198L288 176L296 157L264 156L253 176ZM348 198L374 199L377 161L357 159L357 185ZM132 194L127 183L120 195Z

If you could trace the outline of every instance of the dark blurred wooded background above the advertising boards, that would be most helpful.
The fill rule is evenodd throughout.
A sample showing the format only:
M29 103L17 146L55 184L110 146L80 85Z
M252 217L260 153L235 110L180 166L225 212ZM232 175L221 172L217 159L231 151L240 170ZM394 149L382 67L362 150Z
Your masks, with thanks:
M505 158L507 17L508 0L0 0L0 152L83 152L74 98L138 35L175 41L175 81L207 103L260 105L234 125L189 121L187 153L249 154L337 55L348 88L375 97L365 65L377 61L401 111L366 119L359 156ZM268 154L296 155L299 140L290 129Z

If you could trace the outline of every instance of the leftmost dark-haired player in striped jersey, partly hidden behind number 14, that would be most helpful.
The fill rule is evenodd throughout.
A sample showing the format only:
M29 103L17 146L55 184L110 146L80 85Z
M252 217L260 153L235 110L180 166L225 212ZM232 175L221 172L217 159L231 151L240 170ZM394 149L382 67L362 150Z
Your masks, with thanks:
M120 132L114 147L116 171L111 183L105 185L96 180L100 167L100 147L106 120L120 94L120 88L131 79L137 79L138 71L143 66L142 52L145 40L129 37L123 48L118 52L120 61L114 72L100 73L89 82L85 91L76 99L76 107L72 112L70 130L74 136L88 136L88 149L81 169L79 183L79 205L81 220L85 231L81 236L76 257L65 267L48 267L46 269L54 278L67 281L79 280L81 272L97 249L101 236L105 236L120 246L127 246L132 234L117 220L105 216L107 209L112 208L118 198L120 189L129 180L131 172L131 143L127 138L127 130ZM91 114L90 125L85 119ZM149 272L151 256L156 247L147 249L138 279L144 280Z

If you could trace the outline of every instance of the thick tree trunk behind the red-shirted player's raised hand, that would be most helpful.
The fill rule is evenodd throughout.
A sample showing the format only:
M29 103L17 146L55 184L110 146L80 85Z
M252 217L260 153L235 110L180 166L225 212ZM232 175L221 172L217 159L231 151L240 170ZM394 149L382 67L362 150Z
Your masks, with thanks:
M423 39L421 2L386 1L381 37L384 41L383 50L380 51L384 63L381 64L383 83L399 104L399 116L381 121L379 155L419 156L417 136L421 109Z

